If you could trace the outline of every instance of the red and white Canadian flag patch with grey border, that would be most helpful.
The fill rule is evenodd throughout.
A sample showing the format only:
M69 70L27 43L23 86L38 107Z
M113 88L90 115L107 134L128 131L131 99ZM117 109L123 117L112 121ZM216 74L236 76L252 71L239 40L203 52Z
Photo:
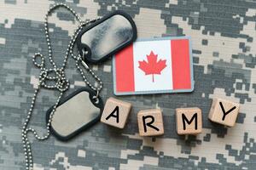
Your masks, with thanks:
M189 37L137 41L113 58L114 94L193 91Z

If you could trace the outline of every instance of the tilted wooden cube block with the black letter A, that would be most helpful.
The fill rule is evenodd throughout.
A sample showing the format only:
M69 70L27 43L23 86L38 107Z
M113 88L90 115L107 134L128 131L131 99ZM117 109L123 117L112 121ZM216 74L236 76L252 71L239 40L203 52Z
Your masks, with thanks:
M119 99L108 98L102 112L101 122L113 127L124 128L130 111L130 103Z

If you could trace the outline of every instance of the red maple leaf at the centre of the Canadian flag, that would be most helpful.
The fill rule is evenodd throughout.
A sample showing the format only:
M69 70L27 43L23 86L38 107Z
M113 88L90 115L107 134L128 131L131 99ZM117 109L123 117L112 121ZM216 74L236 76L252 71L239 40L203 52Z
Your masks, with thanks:
M157 61L157 54L153 51L147 55L148 62L143 60L139 61L139 68L145 72L146 75L152 75L152 82L154 82L154 74L161 74L161 71L166 68L166 59Z

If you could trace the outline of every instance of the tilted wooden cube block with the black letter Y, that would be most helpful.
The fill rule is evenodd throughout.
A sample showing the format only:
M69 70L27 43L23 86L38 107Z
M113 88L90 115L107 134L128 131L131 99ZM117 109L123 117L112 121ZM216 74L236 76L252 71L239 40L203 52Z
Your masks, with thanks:
M239 108L240 105L235 102L216 98L212 100L212 107L208 118L212 122L217 122L228 127L234 127Z

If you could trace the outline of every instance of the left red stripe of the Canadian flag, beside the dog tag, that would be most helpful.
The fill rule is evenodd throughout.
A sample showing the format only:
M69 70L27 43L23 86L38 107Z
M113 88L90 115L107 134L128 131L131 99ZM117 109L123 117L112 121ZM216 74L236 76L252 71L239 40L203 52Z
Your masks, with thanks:
M134 92L133 45L115 55L116 92Z

